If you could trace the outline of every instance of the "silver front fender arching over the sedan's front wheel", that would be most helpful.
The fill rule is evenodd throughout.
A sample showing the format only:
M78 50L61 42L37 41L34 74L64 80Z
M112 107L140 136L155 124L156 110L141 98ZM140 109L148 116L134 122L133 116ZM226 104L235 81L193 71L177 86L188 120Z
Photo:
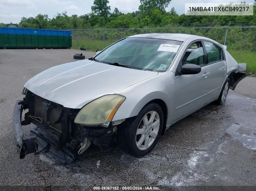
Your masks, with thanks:
M170 75L175 75L173 72L168 72ZM141 109L149 102L155 99L162 100L167 106L168 116L171 116L171 105L173 105L173 81L171 76L161 75L156 78L135 84L118 92L126 97L124 103L119 107L113 121L137 116ZM169 79L169 81L165 79ZM169 117L167 123L169 122Z

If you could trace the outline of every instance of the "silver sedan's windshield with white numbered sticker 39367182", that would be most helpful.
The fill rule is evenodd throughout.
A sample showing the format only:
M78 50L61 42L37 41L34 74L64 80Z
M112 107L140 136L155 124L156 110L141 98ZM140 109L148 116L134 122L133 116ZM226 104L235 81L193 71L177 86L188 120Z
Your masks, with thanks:
M95 59L103 63L119 63L136 69L165 72L182 42L175 40L126 38L103 52Z

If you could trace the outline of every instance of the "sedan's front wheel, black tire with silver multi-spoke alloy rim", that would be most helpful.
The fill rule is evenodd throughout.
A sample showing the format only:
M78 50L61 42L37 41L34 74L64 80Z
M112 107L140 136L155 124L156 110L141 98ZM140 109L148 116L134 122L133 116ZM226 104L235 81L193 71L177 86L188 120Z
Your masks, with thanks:
M118 128L118 142L132 156L148 154L158 142L163 129L164 115L161 107L151 103L138 116L127 119Z

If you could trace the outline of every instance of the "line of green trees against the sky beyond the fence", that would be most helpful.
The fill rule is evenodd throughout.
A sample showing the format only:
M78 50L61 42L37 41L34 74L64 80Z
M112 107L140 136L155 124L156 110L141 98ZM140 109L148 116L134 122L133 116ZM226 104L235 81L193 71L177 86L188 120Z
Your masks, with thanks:
M94 0L91 13L68 16L67 11L65 11L57 13L53 18L49 18L47 14L38 14L35 18L22 17L19 27L39 29L142 28L186 26L187 24L190 24L191 27L200 24L207 26L209 23L212 26L226 26L230 21L237 23L245 21L249 25L256 23L256 0L254 0L253 16L178 15L174 7L166 10L171 0L140 0L140 3L138 11L124 14L118 8L115 8L111 13L108 0ZM6 26L6 24L2 23L1 26Z

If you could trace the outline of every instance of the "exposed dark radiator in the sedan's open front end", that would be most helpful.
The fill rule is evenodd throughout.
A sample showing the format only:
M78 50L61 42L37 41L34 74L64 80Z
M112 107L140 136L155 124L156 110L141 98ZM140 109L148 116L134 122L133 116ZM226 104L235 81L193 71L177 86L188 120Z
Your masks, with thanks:
M42 104L43 98L39 97L38 95L35 95L35 116L40 117L45 123L45 107ZM61 123L53 125L60 117L62 113L63 108L58 105L54 104L53 108L50 109L49 118L48 121L50 122L50 127L58 132L62 132L62 125Z

